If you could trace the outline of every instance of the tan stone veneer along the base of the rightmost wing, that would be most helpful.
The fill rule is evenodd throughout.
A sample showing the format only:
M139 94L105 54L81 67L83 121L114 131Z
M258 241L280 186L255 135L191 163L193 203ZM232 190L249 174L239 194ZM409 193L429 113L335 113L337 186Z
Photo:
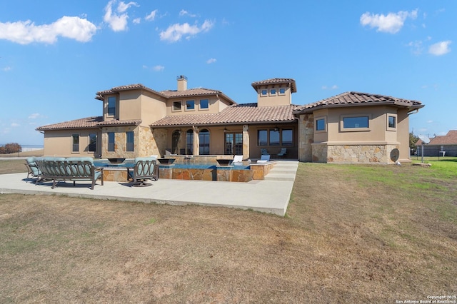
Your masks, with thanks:
M327 145L313 144L313 162L391 164L396 145Z

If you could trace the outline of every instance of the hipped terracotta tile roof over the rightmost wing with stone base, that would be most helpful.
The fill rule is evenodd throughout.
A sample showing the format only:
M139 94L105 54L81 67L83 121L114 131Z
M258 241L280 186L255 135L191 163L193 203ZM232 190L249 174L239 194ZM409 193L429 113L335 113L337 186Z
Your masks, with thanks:
M304 106L298 106L293 113L304 114L312 113L318 108L336 108L338 106L376 106L379 104L391 104L406 108L422 108L424 105L420 101L383 96L371 93L346 92L339 95L322 99L315 103L308 103Z

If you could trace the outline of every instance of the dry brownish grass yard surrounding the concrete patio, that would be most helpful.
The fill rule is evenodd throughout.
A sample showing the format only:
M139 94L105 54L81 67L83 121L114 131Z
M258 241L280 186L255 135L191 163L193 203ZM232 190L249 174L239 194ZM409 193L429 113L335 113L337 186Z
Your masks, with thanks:
M430 168L300 163L284 218L1 194L0 303L452 297L457 158L428 161ZM0 173L26 172L22 163L0 161Z

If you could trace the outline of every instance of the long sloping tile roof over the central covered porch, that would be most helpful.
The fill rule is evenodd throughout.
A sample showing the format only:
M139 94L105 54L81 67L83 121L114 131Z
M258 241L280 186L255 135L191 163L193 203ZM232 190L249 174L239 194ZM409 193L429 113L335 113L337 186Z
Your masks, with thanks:
M264 106L257 103L243 103L229 106L220 113L176 115L152 123L151 126L202 126L236 123L271 123L291 122L296 118L292 114L296 106Z

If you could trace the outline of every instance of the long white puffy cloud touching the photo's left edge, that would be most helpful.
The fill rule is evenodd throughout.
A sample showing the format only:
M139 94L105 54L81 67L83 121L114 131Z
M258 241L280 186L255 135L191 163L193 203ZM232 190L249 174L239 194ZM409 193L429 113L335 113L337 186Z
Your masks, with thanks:
M54 44L59 36L80 42L90 41L96 26L86 19L63 16L52 24L35 25L32 21L0 22L0 39L18 44L39 42Z

